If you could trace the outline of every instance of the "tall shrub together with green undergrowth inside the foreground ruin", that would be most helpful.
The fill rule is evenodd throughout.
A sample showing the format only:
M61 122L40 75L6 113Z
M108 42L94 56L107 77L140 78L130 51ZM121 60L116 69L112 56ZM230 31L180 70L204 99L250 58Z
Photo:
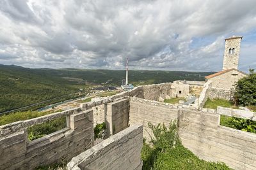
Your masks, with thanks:
M173 121L167 128L164 124L156 126L148 123L154 136L150 144L143 141L141 159L143 169L230 169L223 163L207 162L199 159L182 146Z

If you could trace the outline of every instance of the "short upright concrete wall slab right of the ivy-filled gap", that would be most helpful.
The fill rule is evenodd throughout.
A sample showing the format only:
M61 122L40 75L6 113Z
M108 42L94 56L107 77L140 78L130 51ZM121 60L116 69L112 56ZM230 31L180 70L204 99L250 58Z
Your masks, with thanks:
M116 134L128 127L129 99L121 99L108 104L107 137Z

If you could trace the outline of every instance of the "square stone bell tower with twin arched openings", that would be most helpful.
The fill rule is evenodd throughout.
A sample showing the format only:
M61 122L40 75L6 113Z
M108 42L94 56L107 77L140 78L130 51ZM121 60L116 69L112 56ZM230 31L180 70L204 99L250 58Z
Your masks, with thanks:
M225 39L225 52L222 70L237 69L242 36L232 36Z

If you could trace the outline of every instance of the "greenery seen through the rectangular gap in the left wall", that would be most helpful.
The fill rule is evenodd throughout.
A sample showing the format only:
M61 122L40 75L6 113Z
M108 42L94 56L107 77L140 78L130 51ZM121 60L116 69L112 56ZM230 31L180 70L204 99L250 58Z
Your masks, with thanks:
M42 138L47 134L60 131L65 127L67 127L66 117L55 118L49 122L33 125L28 127L28 139L29 141L33 141L35 139Z

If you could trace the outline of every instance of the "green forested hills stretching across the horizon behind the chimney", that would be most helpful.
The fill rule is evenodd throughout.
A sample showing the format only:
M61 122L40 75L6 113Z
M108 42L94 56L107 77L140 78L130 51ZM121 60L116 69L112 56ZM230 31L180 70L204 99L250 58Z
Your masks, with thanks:
M163 83L204 80L212 73L184 71L129 71L129 82ZM89 69L29 69L0 64L0 112L77 92L88 85L120 85L125 71Z

